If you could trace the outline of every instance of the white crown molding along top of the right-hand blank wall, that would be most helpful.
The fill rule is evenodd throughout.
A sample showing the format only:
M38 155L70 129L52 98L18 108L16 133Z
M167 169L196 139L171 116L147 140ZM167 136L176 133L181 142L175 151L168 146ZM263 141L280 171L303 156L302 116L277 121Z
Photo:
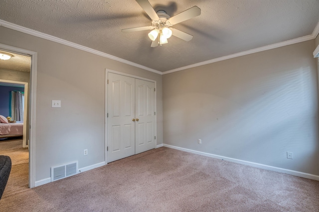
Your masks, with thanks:
M185 69L195 68L195 67L199 67L199 66L204 66L204 65L207 65L207 64L216 63L216 62L228 60L228 59L231 59L231 58L237 58L237 57L244 56L244 55L249 55L249 54L253 54L253 53L257 53L257 52L262 52L262 51L266 51L266 50L270 50L270 49L275 49L275 48L279 48L279 47L283 47L283 46L288 46L288 45L291 45L291 44L296 44L296 43L300 43L300 42L304 42L304 41L309 41L309 40L312 40L312 39L315 39L315 38L316 37L314 37L314 35L307 35L307 36L304 36L304 37L300 37L300 38L296 38L296 39L292 39L292 40L288 40L288 41L284 41L284 42L280 42L280 43L276 43L276 44L272 44L272 45L268 45L268 46L263 46L263 47L260 47L260 48L256 48L256 49L252 49L252 50L248 50L248 51L244 51L244 52L239 52L239 53L236 53L236 54L233 54L233 55L227 55L227 56L224 56L224 57L215 58L215 59L208 60L208 61L203 61L203 62L200 62L200 63L197 63L197 64L192 64L192 65L189 65L189 66L180 67L180 68L173 69L173 70L170 70L170 71L164 71L163 74L172 73L172 72L176 72L176 71L182 71L182 70L185 70Z

